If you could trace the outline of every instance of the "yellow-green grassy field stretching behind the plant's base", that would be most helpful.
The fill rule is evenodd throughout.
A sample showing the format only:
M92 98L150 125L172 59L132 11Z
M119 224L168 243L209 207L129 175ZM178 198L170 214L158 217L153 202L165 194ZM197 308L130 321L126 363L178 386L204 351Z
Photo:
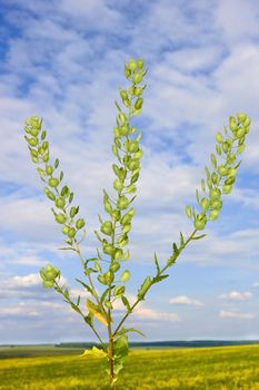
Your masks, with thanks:
M100 361L78 358L81 352L51 345L0 349L0 389L108 389ZM259 390L259 345L132 350L117 389Z

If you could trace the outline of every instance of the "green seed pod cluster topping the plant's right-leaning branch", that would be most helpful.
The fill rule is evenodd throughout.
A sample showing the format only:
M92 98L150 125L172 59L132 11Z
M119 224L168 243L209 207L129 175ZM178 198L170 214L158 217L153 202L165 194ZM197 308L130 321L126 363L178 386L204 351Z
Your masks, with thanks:
M226 138L223 138L221 133L217 133L216 135L216 153L218 156L221 156L221 158L225 155L225 163L218 165L216 156L211 154L210 159L215 170L211 174L206 167L206 183L209 194L207 194L207 197L200 199L197 191L197 201L201 206L201 213L196 215L193 208L191 209L189 205L186 206L186 214L189 218L193 217L193 226L197 231L203 230L208 220L215 221L219 217L220 209L222 208L221 195L228 195L232 191L237 169L241 162L236 166L232 165L236 163L237 155L245 150L245 139L246 135L249 133L250 123L250 119L243 113L238 114L237 118L230 116L229 128L232 134L229 135L225 127ZM235 146L235 142L237 142L238 145ZM221 181L223 181L223 184L220 184ZM206 192L205 179L201 181L201 188Z

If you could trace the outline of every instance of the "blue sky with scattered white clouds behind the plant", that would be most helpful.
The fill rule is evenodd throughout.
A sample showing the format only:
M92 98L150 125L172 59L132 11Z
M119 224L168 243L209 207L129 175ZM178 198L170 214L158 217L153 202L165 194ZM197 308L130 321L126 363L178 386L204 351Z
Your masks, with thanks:
M123 64L131 57L142 57L149 71L135 119L143 158L127 263L130 300L155 272L153 252L163 264L179 232L192 232L185 206L197 206L216 133L240 111L252 125L220 218L129 324L146 340L259 339L258 2L0 0L0 343L94 340L41 286L38 271L51 262L71 294L87 298L74 281L82 276L78 259L58 250L63 236L30 163L23 121L43 117L51 156L87 221L83 253L94 255L102 188L112 193L114 178L113 101L128 86Z

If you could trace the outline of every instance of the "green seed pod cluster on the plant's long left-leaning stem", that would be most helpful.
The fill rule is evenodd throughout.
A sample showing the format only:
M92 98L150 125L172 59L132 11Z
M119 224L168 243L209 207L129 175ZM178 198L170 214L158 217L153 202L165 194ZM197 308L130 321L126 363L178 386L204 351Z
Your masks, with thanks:
M61 185L63 179L63 173L54 175L56 169L59 166L58 158L54 165L49 163L49 143L46 140L47 131L42 130L42 119L32 116L26 119L24 138L28 143L28 147L31 154L31 159L36 164L43 164L42 167L38 167L37 170L42 182L47 184L44 193L50 201L54 203L56 209L52 213L58 224L62 225L62 233L67 236L66 243L72 245L74 236L79 230L84 226L84 220L74 220L79 212L79 206L71 205L73 199L73 193L66 185Z

